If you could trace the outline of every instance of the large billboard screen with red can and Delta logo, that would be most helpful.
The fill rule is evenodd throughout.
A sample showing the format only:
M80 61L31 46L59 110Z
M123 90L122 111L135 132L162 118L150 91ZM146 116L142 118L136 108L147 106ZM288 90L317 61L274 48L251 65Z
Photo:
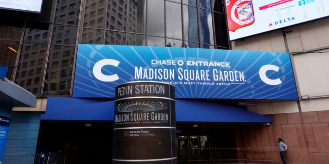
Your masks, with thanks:
M230 40L329 15L327 0L226 0Z

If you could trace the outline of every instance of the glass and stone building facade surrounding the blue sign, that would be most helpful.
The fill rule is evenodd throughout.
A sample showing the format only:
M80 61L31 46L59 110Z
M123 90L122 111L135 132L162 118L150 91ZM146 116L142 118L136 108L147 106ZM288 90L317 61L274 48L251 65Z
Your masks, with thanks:
M113 152L108 147L113 136L104 129L111 129L113 121L39 119L47 113L49 97L72 96L78 44L104 44L289 52L299 100L211 100L265 115L272 124L178 122L177 142L200 147L209 140L213 148L276 148L281 137L288 145L289 163L329 163L328 18L229 42L224 4L220 0L44 0L41 14L1 10L1 15L11 16L0 16L0 64L10 67L8 79L38 98L36 108L13 108L12 117L17 117L13 120L23 120L18 118L27 113L31 119L24 121L36 126L31 138L17 137L25 130L9 130L6 152L67 151L72 162L111 163ZM69 103L58 104L64 102ZM28 148L17 146L13 144L17 138L32 142ZM82 144L86 140L93 141ZM198 153L193 160L200 160L200 149ZM97 154L105 158L98 159Z

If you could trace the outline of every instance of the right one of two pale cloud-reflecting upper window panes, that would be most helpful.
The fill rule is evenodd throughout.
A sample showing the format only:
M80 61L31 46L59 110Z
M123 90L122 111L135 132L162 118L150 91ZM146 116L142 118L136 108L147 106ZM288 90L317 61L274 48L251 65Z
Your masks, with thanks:
M167 2L167 37L182 39L181 6L177 3Z

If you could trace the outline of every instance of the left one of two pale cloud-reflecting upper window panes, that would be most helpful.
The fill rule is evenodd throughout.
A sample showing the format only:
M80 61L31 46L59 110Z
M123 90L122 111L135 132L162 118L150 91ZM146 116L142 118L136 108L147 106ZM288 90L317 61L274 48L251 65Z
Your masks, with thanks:
M148 34L165 36L165 2L148 1ZM163 44L164 46L165 44Z

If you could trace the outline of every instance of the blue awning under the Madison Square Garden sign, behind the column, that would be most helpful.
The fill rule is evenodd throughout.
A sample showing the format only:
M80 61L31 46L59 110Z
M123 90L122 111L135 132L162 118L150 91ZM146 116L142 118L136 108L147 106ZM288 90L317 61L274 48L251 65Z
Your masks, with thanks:
M271 118L244 109L176 99L176 121L186 122L272 122ZM114 101L48 97L43 120L114 120Z

